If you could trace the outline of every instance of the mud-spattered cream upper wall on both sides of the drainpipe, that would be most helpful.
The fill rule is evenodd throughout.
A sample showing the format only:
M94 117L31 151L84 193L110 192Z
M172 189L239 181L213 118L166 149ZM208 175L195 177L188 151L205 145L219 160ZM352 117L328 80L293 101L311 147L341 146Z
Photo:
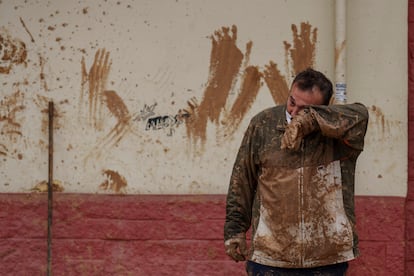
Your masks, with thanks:
M349 100L366 103L373 114L358 168L359 194L404 195L406 190L407 70L401 66L406 63L406 3L389 2L348 2ZM293 67L301 61L286 53L284 42L298 47L292 25L300 32L301 24L307 23L317 33L313 66L333 77L333 4L331 0L1 1L0 56L11 44L22 49L21 42L27 56L20 62L17 51L15 58L0 61L0 112L8 118L0 121L0 192L29 192L47 180L45 109L53 101L54 179L65 192L226 193L248 121L275 104L262 83L240 125L223 138L245 66L258 66L263 72L273 61L290 83ZM149 118L174 117L179 110L188 110L188 101L200 104L208 89L215 89L214 76L209 75L215 55L212 40L227 49L220 59L225 62L237 52L221 36L222 27L232 26L237 28L233 39L244 55L243 64L219 123L207 123L206 140L200 143L196 136L195 143L192 137L199 133L194 132L199 124L189 126L182 120L148 129ZM311 34L304 35L296 42L310 38ZM250 55L248 42L252 42ZM302 51L309 53L312 45ZM223 91L218 87L215 92ZM88 98L93 95L103 102ZM389 146L391 150L386 149ZM105 189L102 183L108 176L114 185L124 187Z

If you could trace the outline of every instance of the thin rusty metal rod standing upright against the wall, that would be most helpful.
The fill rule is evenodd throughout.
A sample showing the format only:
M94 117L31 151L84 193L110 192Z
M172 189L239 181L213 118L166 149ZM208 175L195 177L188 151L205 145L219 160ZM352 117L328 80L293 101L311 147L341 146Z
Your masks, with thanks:
M49 102L49 160L47 182L47 275L52 275L52 216L53 216L53 102Z

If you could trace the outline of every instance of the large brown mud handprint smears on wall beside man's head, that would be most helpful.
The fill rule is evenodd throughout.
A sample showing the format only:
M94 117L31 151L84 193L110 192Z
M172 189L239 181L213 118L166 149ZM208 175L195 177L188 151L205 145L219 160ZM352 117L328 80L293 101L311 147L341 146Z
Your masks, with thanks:
M285 68L295 76L298 72L315 66L317 28L308 22L301 23L300 33L292 24L293 45L284 41ZM207 88L200 105L189 101L191 116L186 121L187 133L193 143L206 140L208 121L218 128L224 128L223 136L231 138L240 126L241 121L254 103L264 79L275 104L286 102L289 93L290 79L283 76L278 65L270 61L263 72L259 66L249 65L253 42L246 44L246 53L242 54L237 47L237 27L222 27L215 32L210 55L210 74ZM242 62L244 68L241 68ZM241 73L240 73L241 72ZM240 75L241 74L241 75ZM230 92L234 89L237 79L241 79L241 87L230 110L225 110ZM225 113L221 117L222 113ZM223 127L221 125L224 125Z

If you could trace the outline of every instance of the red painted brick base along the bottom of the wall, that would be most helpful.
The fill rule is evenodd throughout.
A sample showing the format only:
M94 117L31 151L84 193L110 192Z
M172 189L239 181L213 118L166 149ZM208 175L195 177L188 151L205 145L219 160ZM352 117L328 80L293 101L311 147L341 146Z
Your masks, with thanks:
M1 275L45 275L47 195L0 194ZM404 205L357 197L348 275L404 275ZM224 195L55 194L54 275L244 275L223 249Z

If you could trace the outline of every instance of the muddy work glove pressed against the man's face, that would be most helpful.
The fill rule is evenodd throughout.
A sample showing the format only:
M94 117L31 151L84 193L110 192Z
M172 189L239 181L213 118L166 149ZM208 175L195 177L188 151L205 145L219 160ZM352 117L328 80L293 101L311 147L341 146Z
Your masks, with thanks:
M287 125L285 133L282 137L280 148L299 150L302 139L309 133L317 129L316 120L313 118L309 110L302 110L292 118L290 124Z

